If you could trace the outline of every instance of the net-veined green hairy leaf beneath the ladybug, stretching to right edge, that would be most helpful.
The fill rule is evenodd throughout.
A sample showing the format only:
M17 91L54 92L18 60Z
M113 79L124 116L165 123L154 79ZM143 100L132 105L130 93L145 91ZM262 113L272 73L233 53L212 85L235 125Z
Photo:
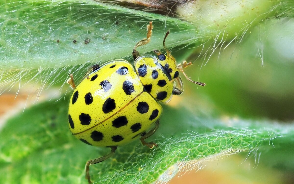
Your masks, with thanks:
M86 145L71 135L66 119L68 101L44 102L7 122L0 132L0 137L5 137L0 140L0 183L87 183L86 161L110 150ZM92 180L169 180L163 174L170 167L176 173L177 169L189 169L191 161L240 151L270 150L275 142L281 146L294 138L292 125L236 120L227 126L228 122L205 115L196 118L181 106L164 106L164 111L161 127L148 139L157 142L158 148L150 150L138 140L119 147L112 158L90 166ZM175 166L180 163L180 168Z

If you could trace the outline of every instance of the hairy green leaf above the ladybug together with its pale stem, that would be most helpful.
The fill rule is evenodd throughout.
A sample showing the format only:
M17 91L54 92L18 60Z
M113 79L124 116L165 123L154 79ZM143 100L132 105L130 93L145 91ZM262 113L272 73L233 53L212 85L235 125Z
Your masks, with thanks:
M2 1L0 66L11 73L16 69L42 71L125 58L131 56L135 43L146 36L148 21L153 21L155 26L152 42L141 48L141 52L162 48L162 38L168 29L171 30L167 40L170 48L188 44L199 47L214 40L231 41L235 34L242 36L250 26L273 13L283 15L288 10L285 6L288 1L291 3L290 0L282 3L251 0L212 5L213 0L207 4L197 2L201 4L200 9L196 8L197 4L179 6L178 16L187 17L188 21L100 1ZM193 16L186 15L187 9ZM225 38L224 34L227 34Z

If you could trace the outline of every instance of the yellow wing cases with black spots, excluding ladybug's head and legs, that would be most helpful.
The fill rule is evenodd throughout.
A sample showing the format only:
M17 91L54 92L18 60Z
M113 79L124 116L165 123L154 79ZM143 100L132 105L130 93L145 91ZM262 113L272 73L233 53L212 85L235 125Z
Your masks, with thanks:
M69 104L69 128L89 145L121 146L141 137L161 113L132 65L118 59L78 84Z

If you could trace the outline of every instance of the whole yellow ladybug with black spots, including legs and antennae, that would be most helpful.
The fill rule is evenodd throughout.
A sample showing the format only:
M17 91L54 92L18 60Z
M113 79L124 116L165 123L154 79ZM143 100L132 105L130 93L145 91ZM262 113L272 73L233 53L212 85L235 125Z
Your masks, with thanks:
M140 138L150 148L157 144L146 142L159 127L162 107L173 95L183 92L179 72L192 63L176 65L175 58L154 50L154 55L139 57L137 48L150 41L152 22L147 26L147 38L133 49L135 69L126 60L116 59L102 66L94 65L77 86L70 74L68 83L74 89L69 103L69 129L82 142L99 147L110 147L111 152L86 163L86 179L91 183L89 165L111 157L118 146ZM165 39L163 46L165 47ZM204 86L204 83L195 82ZM175 86L175 80L180 88Z

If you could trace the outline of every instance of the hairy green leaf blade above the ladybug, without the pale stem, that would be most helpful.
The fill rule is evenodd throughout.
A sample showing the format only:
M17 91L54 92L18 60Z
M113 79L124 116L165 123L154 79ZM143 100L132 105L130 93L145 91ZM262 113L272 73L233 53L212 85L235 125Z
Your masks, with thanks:
M174 42L190 39L189 30L194 29L178 19L97 1L7 1L0 6L0 14L0 65L18 69L101 63L129 56L136 42L146 37L149 20L156 27L149 48L162 47L167 29L177 38ZM183 30L187 34L179 33Z

